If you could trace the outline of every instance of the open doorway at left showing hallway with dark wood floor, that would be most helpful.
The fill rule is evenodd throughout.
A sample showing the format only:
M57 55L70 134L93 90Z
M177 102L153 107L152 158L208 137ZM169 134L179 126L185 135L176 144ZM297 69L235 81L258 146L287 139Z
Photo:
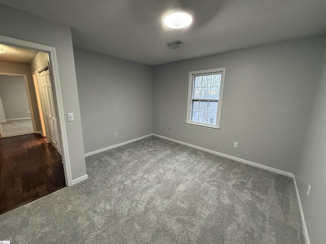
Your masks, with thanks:
M58 105L52 89L48 53L4 44L0 47L8 53L21 51L26 56L24 62L19 62L15 55L4 57L0 54L0 82L5 80L2 83L6 84L2 87L0 83L1 118L4 121L0 124L2 214L65 187L66 180ZM19 93L22 87L14 84L21 84L24 80L26 89L23 96ZM8 87L12 93L8 92ZM13 107L14 104L17 106ZM18 115L19 110L23 113ZM24 129L22 123L29 127L28 133L21 132ZM8 132L9 125L14 134Z

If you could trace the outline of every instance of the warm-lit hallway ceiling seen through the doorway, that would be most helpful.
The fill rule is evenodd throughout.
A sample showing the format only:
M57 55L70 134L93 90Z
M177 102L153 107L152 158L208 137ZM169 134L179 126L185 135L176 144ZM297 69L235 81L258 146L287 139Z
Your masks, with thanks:
M4 53L0 53L0 62L29 65L38 51L0 44Z

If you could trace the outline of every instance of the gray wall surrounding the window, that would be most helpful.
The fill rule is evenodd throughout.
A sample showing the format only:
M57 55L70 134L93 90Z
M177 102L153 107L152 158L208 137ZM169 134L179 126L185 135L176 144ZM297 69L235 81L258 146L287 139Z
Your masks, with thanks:
M154 133L293 173L324 49L316 37L156 66ZM188 72L221 67L221 130L185 125Z

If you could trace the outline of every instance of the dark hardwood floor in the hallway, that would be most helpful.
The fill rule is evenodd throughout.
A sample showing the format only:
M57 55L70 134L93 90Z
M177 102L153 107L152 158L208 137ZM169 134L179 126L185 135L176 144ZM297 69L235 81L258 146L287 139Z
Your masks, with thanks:
M61 156L46 138L0 139L0 214L65 186Z

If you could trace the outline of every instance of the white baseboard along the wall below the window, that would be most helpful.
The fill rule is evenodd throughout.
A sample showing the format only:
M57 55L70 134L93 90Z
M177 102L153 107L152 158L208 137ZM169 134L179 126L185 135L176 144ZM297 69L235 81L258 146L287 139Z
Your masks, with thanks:
M157 134L153 134L153 136L160 137L160 138L163 138L163 139L166 139L166 140L170 140L170 141L182 144L182 145L194 147L194 148L197 148L197 149L200 149L200 150L203 150L203 151L207 151L208 153L211 153L211 154L219 155L219 156L227 158L227 159L232 159L232 160L240 162L240 163L249 164L251 166L261 168L261 169L265 169L265 170L268 170L268 171L271 171L271 172L274 172L274 173L286 175L286 176L289 176L289 177L292 177L292 178L294 177L294 175L292 173L289 173L289 172L286 172L286 171L283 171L283 170L280 170L280 169L271 168L271 167L268 167L268 166L265 166L265 165L262 165L262 164L257 164L257 163L254 163L254 162L251 162L251 161L248 161L248 160L245 160L245 159L240 159L240 158L237 158L237 157L234 157L234 156L231 156L231 155L222 154L222 153L219 153L218 151L213 151L213 150L210 150L210 149L206 149L204 147L196 146L196 145L189 144L189 143L186 143L186 142L183 142L183 141L178 141L178 140L166 137L166 136L160 136L160 135L157 135Z

